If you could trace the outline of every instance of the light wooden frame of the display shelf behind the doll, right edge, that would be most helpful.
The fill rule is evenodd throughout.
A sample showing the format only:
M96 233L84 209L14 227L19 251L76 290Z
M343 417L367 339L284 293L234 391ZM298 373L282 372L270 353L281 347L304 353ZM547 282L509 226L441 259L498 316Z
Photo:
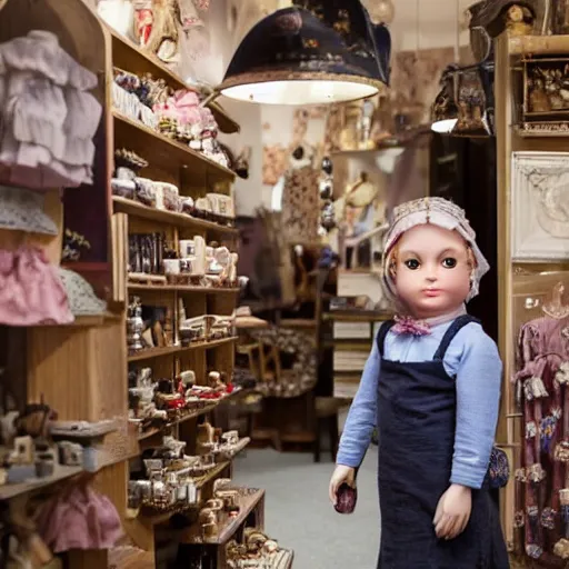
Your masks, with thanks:
M516 372L516 336L519 332L520 315L515 308L516 297L526 293L525 279L539 272L567 270L567 261L562 262L518 262L513 259L512 232L512 152L545 151L562 152L567 148L567 131L525 132L516 122L516 86L517 69L523 56L565 57L569 56L569 36L520 36L510 37L503 32L495 42L496 60L496 139L498 172L498 308L499 308L499 342L500 357L503 362L502 397L497 432L497 446L505 450L510 461L512 475L500 496L500 513L503 533L510 551L523 550L518 542L519 529L515 513L522 505L516 505L516 481L513 472L521 463L521 448L526 443L526 435L521 422L521 413L516 403L516 387L511 381ZM520 101L518 101L518 104ZM565 137L565 140L562 140ZM528 292L529 295L529 292ZM531 291L533 296L533 288ZM548 475L549 476L549 475ZM543 498L545 500L545 498ZM546 503L546 502L543 502ZM552 538L551 538L552 539ZM511 559L512 567L536 567L542 559L532 561L525 559L518 565ZM543 561L545 562L545 561Z

